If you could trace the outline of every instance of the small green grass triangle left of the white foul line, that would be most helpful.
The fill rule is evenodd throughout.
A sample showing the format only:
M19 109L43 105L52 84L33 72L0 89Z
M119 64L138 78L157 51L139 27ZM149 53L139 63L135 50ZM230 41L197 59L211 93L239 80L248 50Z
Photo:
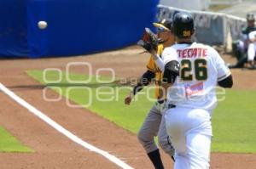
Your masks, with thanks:
M0 127L0 152L33 152L32 149L22 145L3 127Z

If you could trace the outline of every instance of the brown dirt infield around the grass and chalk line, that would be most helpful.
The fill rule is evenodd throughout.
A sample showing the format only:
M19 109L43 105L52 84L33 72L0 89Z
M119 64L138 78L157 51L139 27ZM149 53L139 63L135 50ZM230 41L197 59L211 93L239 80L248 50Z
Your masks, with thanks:
M49 115L57 123L73 132L84 141L119 157L134 168L153 168L137 142L136 135L117 127L110 121L85 109L73 109L67 106L65 99L59 102L46 102L42 97L44 86L26 76L26 70L45 68L66 69L69 62L88 62L97 68L113 68L116 76L137 77L145 70L147 54L140 54L137 48L93 54L88 56L51 58L51 59L2 59L0 60L0 82L9 87L22 99L38 110ZM234 62L230 56L224 56L228 62ZM79 67L73 72L88 73ZM256 89L256 71L232 70L236 89ZM57 93L50 92L52 97ZM35 115L32 115L20 104L0 93L2 109L0 126L19 138L20 141L35 150L35 153L0 153L0 168L86 168L112 169L119 168L112 162L84 149L49 127ZM172 168L172 161L164 153L166 168ZM256 155L212 154L212 168L219 169L254 169Z

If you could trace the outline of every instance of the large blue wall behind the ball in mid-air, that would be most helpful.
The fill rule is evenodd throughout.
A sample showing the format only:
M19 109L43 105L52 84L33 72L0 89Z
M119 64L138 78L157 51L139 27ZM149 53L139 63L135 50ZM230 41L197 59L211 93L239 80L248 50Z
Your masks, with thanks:
M91 54L137 42L159 0L2 0L0 56ZM38 21L48 27L38 29Z

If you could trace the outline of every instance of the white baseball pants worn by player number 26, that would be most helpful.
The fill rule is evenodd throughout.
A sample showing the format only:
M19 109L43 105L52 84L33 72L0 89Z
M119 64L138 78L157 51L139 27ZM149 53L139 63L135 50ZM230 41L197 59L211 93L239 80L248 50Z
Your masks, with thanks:
M212 124L210 112L173 108L166 111L166 131L175 149L174 169L208 169Z

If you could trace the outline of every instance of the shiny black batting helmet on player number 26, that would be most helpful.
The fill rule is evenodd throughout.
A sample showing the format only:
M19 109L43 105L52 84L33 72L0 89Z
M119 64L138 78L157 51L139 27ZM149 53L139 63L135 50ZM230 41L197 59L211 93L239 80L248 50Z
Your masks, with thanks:
M195 31L194 19L191 14L180 12L174 15L172 32L179 38L191 37Z

